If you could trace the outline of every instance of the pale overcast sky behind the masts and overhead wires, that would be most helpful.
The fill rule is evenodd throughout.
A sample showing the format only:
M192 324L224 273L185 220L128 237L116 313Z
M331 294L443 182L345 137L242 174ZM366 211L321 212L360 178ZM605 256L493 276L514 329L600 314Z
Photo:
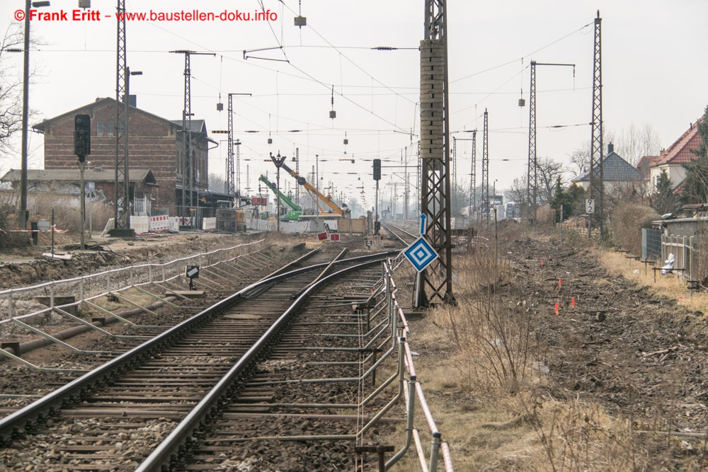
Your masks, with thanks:
M115 1L91 0L101 20L84 22L71 20L78 0L51 1L50 7L38 11L63 9L69 21L31 23L31 37L45 43L30 54L39 71L30 89L30 108L38 118L33 123L97 97L115 98L115 16L105 18L115 15ZM252 93L234 97L234 128L243 142L242 188L247 165L253 193L260 173L273 174L273 164L263 162L268 153L280 151L290 161L296 147L301 173L315 165L319 154L322 183L326 186L332 180L337 192L351 197L361 191L357 187L373 188L370 159L387 159L394 166L409 146L403 159L411 166L414 183L423 1L302 0L299 6L295 0L127 0L126 6L132 12L198 8L217 15L238 10L253 16L261 2L277 19L127 22L127 62L132 71L143 72L130 82L138 108L181 119L184 57L169 51L213 52L215 57L192 57L192 111L195 119L206 120L207 129L227 129L227 93ZM0 30L16 23L15 11L23 8L24 1L2 0ZM299 8L307 27L293 25ZM708 62L701 52L708 38L708 1L452 0L450 125L458 138L469 137L464 130L480 130L478 184L485 109L490 185L498 180L497 189L507 188L514 178L525 175L529 117L528 107L520 108L518 99L523 89L528 105L527 67L532 59L576 64L574 76L570 67L537 67L537 154L567 162L573 149L588 142L592 23L598 9L603 18L605 127L619 131L633 123L649 123L666 147L702 114L708 105ZM399 50L371 49L379 46ZM244 50L273 47L247 52L244 59ZM21 72L22 54L14 54L10 61ZM224 103L222 112L217 111L219 102ZM332 109L334 120L329 118ZM558 125L564 127L554 127ZM301 131L292 132L295 129ZM267 144L269 136L272 145ZM225 134L211 137L226 139ZM469 182L470 144L457 143L459 183ZM225 142L210 152L210 173L224 175L226 155ZM31 134L30 168L42 168L42 156L42 137ZM341 160L352 158L355 163ZM19 159L4 161L0 170L19 166ZM404 168L384 168L382 183L397 181L400 191L403 172ZM372 194L367 195L368 206L372 200Z

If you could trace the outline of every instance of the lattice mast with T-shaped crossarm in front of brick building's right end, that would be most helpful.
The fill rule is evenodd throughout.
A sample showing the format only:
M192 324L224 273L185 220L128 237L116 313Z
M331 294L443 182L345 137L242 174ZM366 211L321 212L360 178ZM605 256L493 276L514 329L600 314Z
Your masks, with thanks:
M187 217L188 207L193 204L194 175L192 171L192 72L190 57L193 54L216 56L212 52L195 52L190 50L174 50L173 54L184 54L184 108L182 110L182 210L181 217ZM191 216L191 215L190 215ZM190 218L193 227L193 219Z

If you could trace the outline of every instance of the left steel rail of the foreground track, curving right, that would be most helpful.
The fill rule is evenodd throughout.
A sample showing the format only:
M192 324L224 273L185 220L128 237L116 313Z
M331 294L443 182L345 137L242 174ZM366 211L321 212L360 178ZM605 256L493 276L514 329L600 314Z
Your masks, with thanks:
M367 260L376 260L376 262L378 262L380 258L385 258L387 255L389 255L389 253L377 253L372 255L364 255L357 258L343 259L339 260L337 265L363 263ZM285 272L281 275L276 275L275 277L270 277L270 279L254 282L248 287L244 287L244 289L241 289L231 296L218 301L216 304L208 307L207 309L200 311L195 314L195 316L188 318L163 333L160 333L156 337L147 340L145 343L142 343L141 345L124 352L122 355L111 359L101 367L93 369L91 372L87 372L78 379L74 379L74 381L69 382L69 384L57 388L57 390L40 398L38 401L30 403L30 405L26 405L24 408L11 413L0 420L0 447L6 447L6 445L11 442L13 434L18 434L19 432L31 429L33 422L38 422L50 415L54 415L61 410L63 405L70 404L77 398L81 398L81 396L84 396L102 381L113 376L115 372L120 372L122 369L127 369L128 367L137 364L142 359L153 355L154 352L157 352L165 345L169 345L173 342L173 339L179 338L183 330L187 330L193 326L198 326L198 324L203 323L210 316L215 315L215 313L219 313L222 309L226 309L228 306L242 301L247 295L251 294L251 292L258 292L260 289L263 289L270 284L275 284L275 282L279 282L280 280L286 280L304 272L319 270L327 266L329 266L329 263L310 265Z

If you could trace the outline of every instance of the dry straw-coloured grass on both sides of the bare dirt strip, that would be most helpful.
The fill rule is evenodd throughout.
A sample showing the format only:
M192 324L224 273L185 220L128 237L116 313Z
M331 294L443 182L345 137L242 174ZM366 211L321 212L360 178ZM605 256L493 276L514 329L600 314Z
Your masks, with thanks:
M644 265L633 261L629 267L619 253L598 257L611 275L654 285ZM637 435L632 418L612 417L593 401L554 397L543 369L547 341L537 333L530 309L536 301L513 288L513 267L495 265L479 251L455 260L455 272L458 306L440 306L411 322L413 349L426 352L416 357L418 379L450 444L455 470L669 470L676 454L682 456L681 470L702 468L701 439ZM508 281L512 287L501 289ZM705 295L689 299L685 284L673 276L657 276L651 290L706 311ZM400 447L403 436L399 426L382 444ZM427 456L430 445L423 445ZM420 465L411 451L394 470L420 470Z

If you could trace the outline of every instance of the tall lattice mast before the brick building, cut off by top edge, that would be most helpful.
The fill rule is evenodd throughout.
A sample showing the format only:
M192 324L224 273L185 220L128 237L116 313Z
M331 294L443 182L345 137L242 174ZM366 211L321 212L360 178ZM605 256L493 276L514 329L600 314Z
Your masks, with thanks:
M127 168L127 133L125 132L125 108L128 106L128 97L125 104L122 96L125 95L125 67L127 66L125 46L125 0L118 0L116 6L120 15L116 21L115 40L115 192L113 207L113 229L130 229L130 182ZM120 201L120 211L118 202Z

